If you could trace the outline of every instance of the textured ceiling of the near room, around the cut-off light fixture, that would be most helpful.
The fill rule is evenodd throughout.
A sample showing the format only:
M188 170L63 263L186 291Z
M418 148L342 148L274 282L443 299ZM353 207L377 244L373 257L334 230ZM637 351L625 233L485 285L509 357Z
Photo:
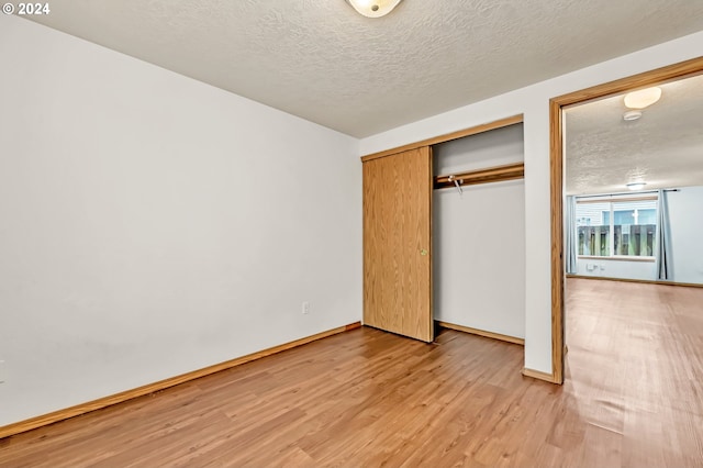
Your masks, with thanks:
M362 137L703 30L701 0L70 0L57 30Z

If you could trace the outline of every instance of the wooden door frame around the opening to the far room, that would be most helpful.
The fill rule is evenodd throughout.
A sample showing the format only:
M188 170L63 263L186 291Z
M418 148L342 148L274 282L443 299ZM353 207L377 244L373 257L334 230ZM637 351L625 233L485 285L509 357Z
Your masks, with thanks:
M549 180L551 208L551 380L563 383L563 129L561 109L591 99L648 88L703 73L703 56L549 100Z

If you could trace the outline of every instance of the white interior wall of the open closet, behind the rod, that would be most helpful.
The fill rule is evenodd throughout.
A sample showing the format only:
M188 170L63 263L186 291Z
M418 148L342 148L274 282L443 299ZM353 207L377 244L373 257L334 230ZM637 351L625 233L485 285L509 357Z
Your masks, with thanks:
M523 160L523 125L434 146L436 175ZM436 320L525 336L524 181L434 192L433 286Z

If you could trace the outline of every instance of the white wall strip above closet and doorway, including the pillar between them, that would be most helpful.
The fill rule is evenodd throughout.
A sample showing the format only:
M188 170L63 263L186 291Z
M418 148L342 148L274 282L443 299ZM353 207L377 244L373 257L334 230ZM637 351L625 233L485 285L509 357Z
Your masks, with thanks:
M525 367L551 372L549 99L701 55L703 32L364 138L361 154L524 114ZM467 86L471 86L467 83Z

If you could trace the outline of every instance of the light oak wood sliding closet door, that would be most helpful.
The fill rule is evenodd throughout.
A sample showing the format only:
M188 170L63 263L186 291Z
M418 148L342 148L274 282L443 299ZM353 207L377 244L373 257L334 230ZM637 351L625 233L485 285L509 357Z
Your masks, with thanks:
M432 149L364 163L364 324L432 342Z

